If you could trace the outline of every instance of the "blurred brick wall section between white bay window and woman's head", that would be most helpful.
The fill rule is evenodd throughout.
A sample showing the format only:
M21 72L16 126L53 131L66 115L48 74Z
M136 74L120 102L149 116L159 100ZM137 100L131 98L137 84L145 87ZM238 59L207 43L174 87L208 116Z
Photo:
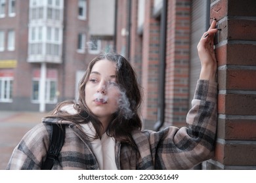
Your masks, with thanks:
M88 57L88 44L90 37L88 35L89 9L87 9L87 19L79 20L77 18L77 3L78 1L64 2L64 32L63 32L63 63L58 65L59 78L58 90L62 100L73 100L75 97L75 74L76 71L85 71L87 64L91 59ZM87 1L89 7L89 1ZM77 52L78 34L86 35L85 53Z

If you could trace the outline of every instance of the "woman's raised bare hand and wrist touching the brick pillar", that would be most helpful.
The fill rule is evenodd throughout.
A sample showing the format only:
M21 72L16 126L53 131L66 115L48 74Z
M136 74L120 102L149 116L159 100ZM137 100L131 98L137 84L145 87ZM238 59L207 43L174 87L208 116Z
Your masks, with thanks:
M203 33L200 42L198 42L198 56L201 61L200 80L209 80L216 82L217 60L214 52L214 34L217 33L217 22L213 20L208 31Z

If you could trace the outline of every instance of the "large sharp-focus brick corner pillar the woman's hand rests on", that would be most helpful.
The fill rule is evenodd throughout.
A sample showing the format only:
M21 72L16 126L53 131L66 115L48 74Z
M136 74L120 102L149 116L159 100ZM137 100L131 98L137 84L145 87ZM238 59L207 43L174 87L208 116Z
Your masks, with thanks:
M218 127L207 169L256 169L256 3L211 1L217 19Z

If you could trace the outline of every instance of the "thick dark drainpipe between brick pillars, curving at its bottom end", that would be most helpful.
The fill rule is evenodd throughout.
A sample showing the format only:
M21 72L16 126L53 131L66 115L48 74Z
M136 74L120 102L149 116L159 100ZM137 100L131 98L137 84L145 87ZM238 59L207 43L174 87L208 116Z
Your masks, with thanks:
M163 0L161 10L160 27L160 84L158 88L158 122L154 130L160 131L165 120L165 53L166 53L166 29L167 29L167 0Z

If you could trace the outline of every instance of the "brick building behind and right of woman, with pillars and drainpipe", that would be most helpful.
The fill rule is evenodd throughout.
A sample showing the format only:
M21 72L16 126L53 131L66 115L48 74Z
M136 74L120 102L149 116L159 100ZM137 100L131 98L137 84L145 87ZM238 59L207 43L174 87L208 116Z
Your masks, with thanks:
M256 169L256 3L253 0L116 1L116 50L144 90L145 128L184 125L200 73L196 45L213 19L218 60L215 158L196 168Z

